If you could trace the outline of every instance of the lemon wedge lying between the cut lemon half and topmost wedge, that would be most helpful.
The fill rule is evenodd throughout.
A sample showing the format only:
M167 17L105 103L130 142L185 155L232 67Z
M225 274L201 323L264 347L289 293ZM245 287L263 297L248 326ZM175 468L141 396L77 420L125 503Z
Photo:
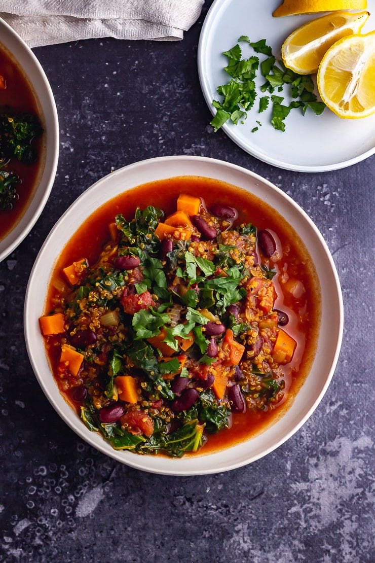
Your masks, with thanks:
M368 12L335 12L301 25L281 48L284 65L298 74L317 72L329 47L346 35L359 33L368 16Z

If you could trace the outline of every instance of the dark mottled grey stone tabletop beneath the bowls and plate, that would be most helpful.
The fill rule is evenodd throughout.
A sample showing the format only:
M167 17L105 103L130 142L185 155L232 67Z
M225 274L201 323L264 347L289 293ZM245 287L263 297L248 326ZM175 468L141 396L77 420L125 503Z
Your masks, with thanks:
M374 159L293 173L214 135L196 69L206 10L180 43L35 50L56 96L61 153L42 216L0 264L0 560L375 560ZM78 439L40 390L22 327L31 266L62 212L110 170L171 154L240 164L290 194L326 239L345 301L336 374L309 421L260 461L206 477L148 475Z

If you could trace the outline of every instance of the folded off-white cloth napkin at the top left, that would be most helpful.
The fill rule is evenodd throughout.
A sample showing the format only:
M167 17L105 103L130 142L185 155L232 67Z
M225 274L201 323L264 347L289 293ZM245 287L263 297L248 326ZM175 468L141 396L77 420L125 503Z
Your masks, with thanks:
M204 0L1 0L0 16L30 47L77 39L183 38Z

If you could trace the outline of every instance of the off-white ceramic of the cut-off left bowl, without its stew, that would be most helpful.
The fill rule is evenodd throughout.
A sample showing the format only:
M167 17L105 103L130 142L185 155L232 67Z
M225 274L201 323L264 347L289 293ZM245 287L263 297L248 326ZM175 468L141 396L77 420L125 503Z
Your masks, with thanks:
M47 203L53 181L56 176L59 135L55 100L46 74L37 57L15 31L0 18L0 44L5 47L24 72L37 101L39 117L44 133L42 140L42 158L34 194L25 208L24 214L13 229L0 240L0 262L24 240L37 222L44 205Z

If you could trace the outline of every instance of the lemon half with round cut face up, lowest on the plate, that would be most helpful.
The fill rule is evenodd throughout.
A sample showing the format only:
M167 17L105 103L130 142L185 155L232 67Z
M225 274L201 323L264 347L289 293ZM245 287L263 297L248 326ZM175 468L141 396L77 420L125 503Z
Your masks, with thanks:
M340 39L324 55L318 90L338 117L359 119L375 113L375 31Z

